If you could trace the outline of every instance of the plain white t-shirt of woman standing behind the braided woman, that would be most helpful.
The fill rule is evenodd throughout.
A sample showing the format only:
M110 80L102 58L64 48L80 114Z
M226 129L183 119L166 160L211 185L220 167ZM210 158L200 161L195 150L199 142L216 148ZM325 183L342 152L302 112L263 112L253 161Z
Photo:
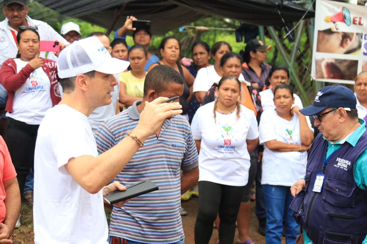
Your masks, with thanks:
M197 71L196 78L193 84L193 92L207 92L214 82L218 83L221 79L222 77L217 74L217 71L215 71L214 69L214 65L201 68L199 71ZM238 79L240 81L245 80L243 74L240 74Z

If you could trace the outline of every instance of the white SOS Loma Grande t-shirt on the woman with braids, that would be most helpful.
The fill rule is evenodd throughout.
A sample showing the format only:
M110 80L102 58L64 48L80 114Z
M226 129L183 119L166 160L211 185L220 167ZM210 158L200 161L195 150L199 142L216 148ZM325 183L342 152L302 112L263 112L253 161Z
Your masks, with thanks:
M191 123L195 140L201 140L199 181L244 186L250 169L246 140L255 140L259 136L255 114L241 105L238 121L235 110L230 114L217 111L215 122L214 103L200 107Z

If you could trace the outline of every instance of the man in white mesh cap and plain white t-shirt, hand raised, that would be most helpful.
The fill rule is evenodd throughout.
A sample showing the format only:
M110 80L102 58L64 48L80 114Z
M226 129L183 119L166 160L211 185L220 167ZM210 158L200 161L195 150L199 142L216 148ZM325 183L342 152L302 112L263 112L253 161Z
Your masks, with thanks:
M161 104L167 99L162 97L146 102L137 127L98 156L88 115L111 103L117 85L112 74L129 62L112 58L97 38L89 37L66 47L57 65L64 94L41 122L34 156L34 241L107 243L102 194L125 188L106 184L166 118L182 112L181 105Z

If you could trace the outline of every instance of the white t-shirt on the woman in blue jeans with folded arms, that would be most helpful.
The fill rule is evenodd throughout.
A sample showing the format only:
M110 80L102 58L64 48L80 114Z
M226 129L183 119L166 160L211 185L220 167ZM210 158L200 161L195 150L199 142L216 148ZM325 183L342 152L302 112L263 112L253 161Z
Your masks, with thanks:
M311 122L306 116L309 128ZM307 152L276 152L266 147L265 142L277 140L287 144L302 144L299 117L294 114L291 121L279 117L275 110L261 114L259 143L264 144L261 184L291 186L306 174Z

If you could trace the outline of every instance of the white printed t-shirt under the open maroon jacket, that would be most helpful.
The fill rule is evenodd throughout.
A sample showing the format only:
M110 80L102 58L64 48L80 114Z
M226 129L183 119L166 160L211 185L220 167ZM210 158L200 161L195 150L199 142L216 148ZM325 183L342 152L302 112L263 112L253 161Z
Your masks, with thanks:
M17 73L29 62L14 59ZM42 67L34 70L26 82L14 93L13 112L6 116L29 125L39 125L49 108L52 108L51 83Z

